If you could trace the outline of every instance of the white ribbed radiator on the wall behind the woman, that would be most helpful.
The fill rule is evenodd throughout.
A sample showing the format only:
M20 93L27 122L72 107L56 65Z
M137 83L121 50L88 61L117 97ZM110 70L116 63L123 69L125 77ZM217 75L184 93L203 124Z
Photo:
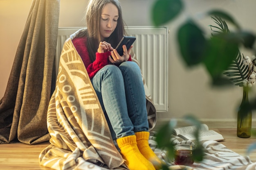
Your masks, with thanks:
M58 29L56 73L65 40L81 27ZM133 51L152 96L157 112L168 111L168 27L128 26L126 32L136 37Z

